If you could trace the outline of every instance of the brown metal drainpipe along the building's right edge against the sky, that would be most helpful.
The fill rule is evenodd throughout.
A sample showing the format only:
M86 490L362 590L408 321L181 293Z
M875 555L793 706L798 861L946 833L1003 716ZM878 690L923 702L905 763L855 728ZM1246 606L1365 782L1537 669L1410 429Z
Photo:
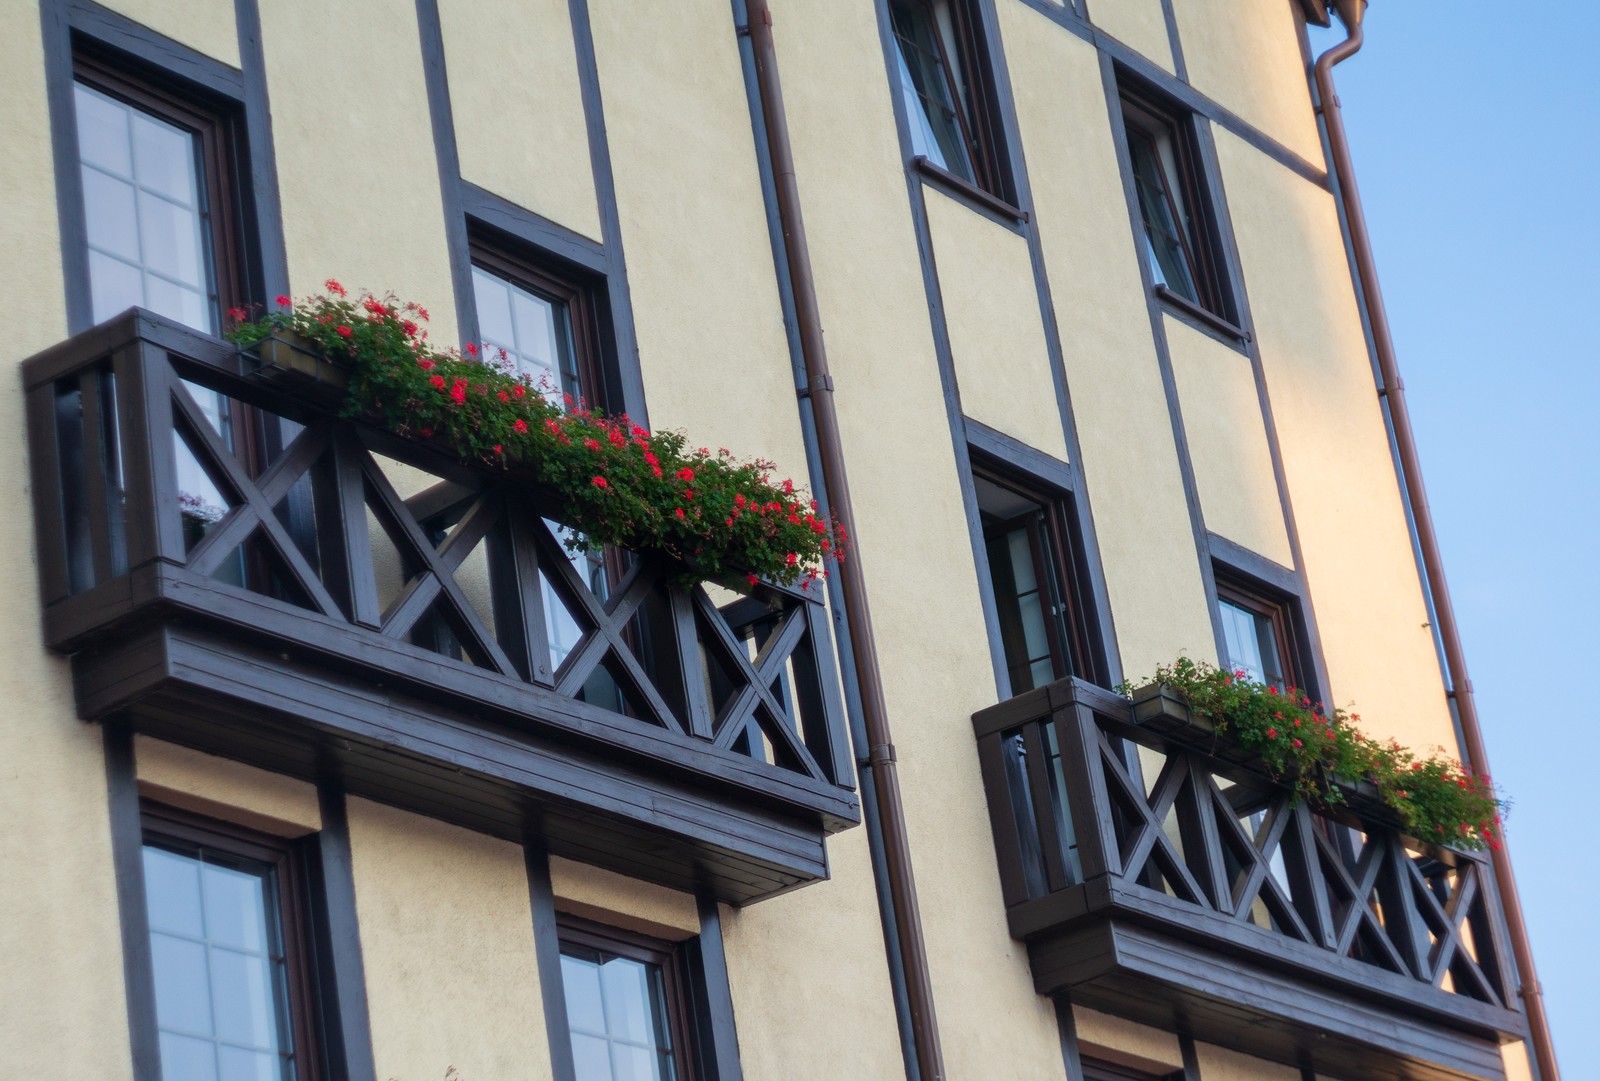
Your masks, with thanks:
M1344 219L1350 238L1350 253L1355 257L1355 272L1360 278L1362 293L1366 294L1366 317L1373 328L1373 347L1378 353L1378 373L1381 377L1378 393L1389 406L1390 438L1394 440L1395 457L1400 462L1400 472L1405 478L1411 523L1416 528L1416 544L1422 555L1422 569L1426 571L1427 588L1434 601L1434 622L1445 652L1445 667L1451 686L1450 694L1456 702L1456 716L1461 723L1462 750L1466 752L1467 766L1475 774L1488 777L1491 776L1490 756L1483 745L1483 729L1478 726L1478 707L1472 696L1472 680L1467 676L1467 657L1461 648L1456 609L1451 604L1450 588L1445 584L1445 563L1440 558L1438 537L1434 533L1434 515L1429 510L1427 493L1422 488L1422 464L1416 454L1411 414L1405 403L1405 382L1400 379L1400 366L1395 360L1394 337L1389 331L1389 312L1384 309L1384 294L1378 286L1378 264L1373 259L1373 245L1366 233L1366 214L1362 209L1362 197L1355 187L1355 165L1350 160L1350 144L1344 134L1339 94L1333 85L1333 66L1355 56L1365 40L1362 16L1366 11L1366 0L1336 0L1334 6L1338 8L1339 21L1344 24L1346 40L1317 58L1314 67L1317 98L1322 102L1322 115L1326 123L1333 171L1339 181L1339 198L1344 203ZM1541 1081L1560 1081L1562 1073L1555 1065L1555 1049L1550 1043L1550 1025L1544 1015L1544 995L1539 990L1539 977L1534 974L1533 947L1528 942L1528 926L1522 915L1522 899L1517 896L1517 878L1512 875L1510 852L1506 848L1504 838L1501 838L1501 848L1493 849L1490 857L1499 886L1501 905L1506 910L1506 929L1510 934L1512 955L1517 958L1517 969L1522 974L1522 1001L1528 1017L1528 1041L1533 1044L1539 1078Z

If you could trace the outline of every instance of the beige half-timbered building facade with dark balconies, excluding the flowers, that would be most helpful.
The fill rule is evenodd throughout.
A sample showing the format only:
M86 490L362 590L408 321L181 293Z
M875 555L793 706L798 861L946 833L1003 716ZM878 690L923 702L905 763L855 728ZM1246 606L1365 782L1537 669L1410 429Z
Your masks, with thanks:
M1534 1076L1485 859L1112 692L1459 748L1326 16L6 0L0 1062ZM328 278L771 459L848 569L568 556L218 337Z

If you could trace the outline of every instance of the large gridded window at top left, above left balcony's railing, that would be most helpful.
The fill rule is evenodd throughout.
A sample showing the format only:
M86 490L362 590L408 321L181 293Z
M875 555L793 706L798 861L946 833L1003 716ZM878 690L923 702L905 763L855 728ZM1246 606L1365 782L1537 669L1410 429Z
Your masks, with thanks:
M230 122L91 56L72 96L93 320L141 305L219 333L245 305Z

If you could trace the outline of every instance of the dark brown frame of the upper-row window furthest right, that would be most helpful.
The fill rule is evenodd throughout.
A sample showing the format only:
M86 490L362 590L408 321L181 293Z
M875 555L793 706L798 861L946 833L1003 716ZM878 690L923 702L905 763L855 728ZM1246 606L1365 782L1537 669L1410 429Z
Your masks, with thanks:
M1165 291L1181 307L1198 307L1214 315L1227 325L1229 333L1242 336L1243 331L1237 329L1238 313L1227 273L1227 261L1222 256L1221 225L1218 222L1216 205L1211 198L1211 189L1206 184L1194 114L1162 98L1158 93L1128 80L1118 85L1118 99L1123 128L1128 130L1130 136L1133 131L1139 131L1152 141L1160 134L1166 134L1171 139L1179 174L1168 179L1176 181L1179 193L1189 206L1192 230L1184 227L1182 214L1168 201L1173 221L1178 225L1179 243L1189 257L1189 272L1194 277L1195 291L1200 296L1190 301L1176 289L1163 286L1157 286L1157 289ZM1133 168L1131 150L1128 168ZM1168 200L1171 200L1170 193ZM1141 227L1149 229L1142 221ZM1142 253L1141 257L1144 257Z

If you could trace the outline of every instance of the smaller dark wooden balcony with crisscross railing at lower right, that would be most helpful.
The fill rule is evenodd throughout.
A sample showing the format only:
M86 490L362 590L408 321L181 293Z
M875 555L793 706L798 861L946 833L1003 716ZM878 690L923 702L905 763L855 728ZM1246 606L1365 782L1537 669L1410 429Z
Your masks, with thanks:
M1486 860L1358 793L1296 800L1173 699L1067 680L973 721L1040 993L1318 1075L1504 1076L1525 1027Z

